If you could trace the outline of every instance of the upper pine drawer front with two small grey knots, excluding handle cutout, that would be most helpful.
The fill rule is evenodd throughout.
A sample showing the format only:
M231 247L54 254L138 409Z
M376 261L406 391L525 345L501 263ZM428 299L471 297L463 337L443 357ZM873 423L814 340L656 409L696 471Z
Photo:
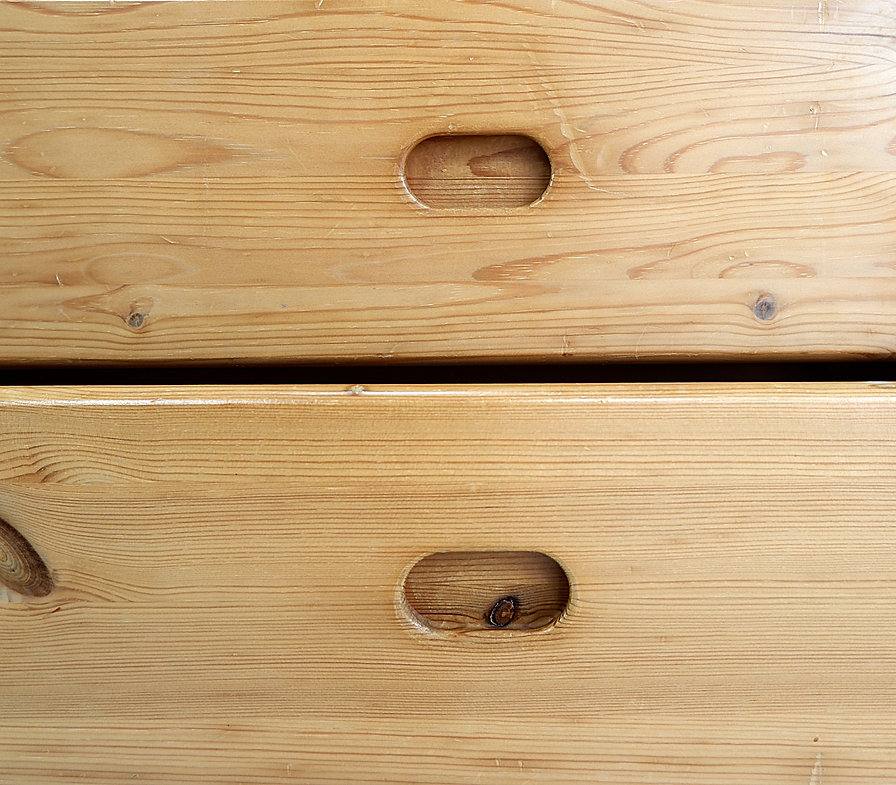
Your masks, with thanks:
M0 362L887 357L887 0L0 6ZM406 153L525 134L531 207ZM471 170L472 172L472 170Z

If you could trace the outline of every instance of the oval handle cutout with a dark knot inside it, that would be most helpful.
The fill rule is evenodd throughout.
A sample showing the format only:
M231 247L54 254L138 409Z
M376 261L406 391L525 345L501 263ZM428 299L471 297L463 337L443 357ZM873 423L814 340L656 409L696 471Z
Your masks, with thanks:
M539 630L569 603L569 578L533 551L448 551L418 561L404 582L407 611L432 630Z

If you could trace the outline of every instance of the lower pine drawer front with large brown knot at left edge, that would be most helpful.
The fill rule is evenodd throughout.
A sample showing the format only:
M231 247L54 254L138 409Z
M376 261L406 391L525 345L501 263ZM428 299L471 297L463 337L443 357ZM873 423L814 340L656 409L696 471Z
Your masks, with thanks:
M892 783L894 412L873 384L5 388L0 518L52 584L0 600L0 782ZM568 607L426 629L402 581L445 552L541 554Z

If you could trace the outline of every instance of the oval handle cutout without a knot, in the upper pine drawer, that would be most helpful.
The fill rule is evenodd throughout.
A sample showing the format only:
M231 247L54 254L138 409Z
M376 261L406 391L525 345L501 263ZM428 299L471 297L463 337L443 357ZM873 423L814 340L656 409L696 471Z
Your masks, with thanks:
M551 183L551 161L528 136L431 136L405 160L405 183L427 207L524 207Z

